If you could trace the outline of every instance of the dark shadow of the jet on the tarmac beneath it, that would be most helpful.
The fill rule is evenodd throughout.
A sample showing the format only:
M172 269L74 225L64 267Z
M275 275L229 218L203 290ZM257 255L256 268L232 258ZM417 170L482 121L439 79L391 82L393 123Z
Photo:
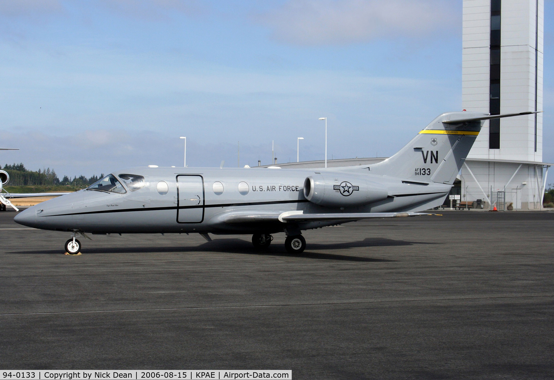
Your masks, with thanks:
M301 254L290 254L285 252L280 244L270 246L266 251L258 251L248 241L238 238L223 238L216 239L211 242L203 243L196 247L181 246L181 247L102 247L102 248L85 248L83 254L98 254L98 253L186 253L186 252L219 252L219 253L235 253L235 254L256 254L270 255L283 257L303 257L312 259L326 259L338 261L363 261L363 262L391 262L395 260L377 259L370 257L347 256L343 254L310 252L310 251L326 251L336 249L350 248L371 248L371 247L393 247L393 246L412 246L414 244L439 244L427 242L411 242L404 240L392 240L387 238L365 238L360 241L344 242L344 243L309 243L307 251ZM14 254L61 254L61 249L50 249L48 251L12 251L7 253Z

